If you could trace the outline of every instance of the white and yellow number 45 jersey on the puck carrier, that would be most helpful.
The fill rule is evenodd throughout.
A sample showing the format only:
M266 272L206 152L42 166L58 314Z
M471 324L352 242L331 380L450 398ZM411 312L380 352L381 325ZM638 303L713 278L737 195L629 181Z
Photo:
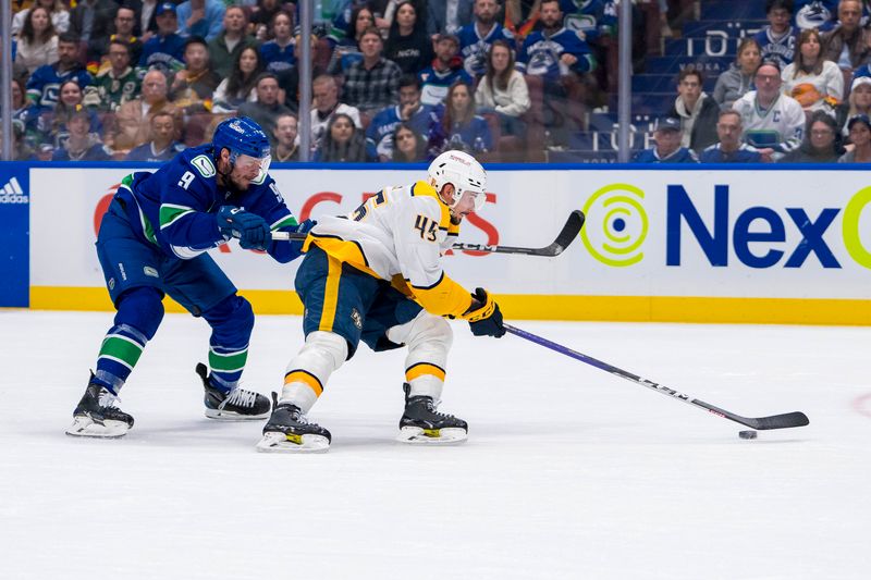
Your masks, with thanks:
M461 316L471 296L441 266L442 252L458 233L447 206L421 181L385 187L346 217L319 219L305 249L314 244L338 261L393 283L433 314Z

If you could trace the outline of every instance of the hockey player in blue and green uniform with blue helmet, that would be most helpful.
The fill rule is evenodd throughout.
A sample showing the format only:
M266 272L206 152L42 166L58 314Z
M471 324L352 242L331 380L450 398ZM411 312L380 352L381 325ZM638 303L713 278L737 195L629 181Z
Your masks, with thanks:
M208 361L197 365L206 416L261 419L269 400L238 386L254 328L250 304L207 250L238 239L285 263L302 243L272 242L271 232L307 232L284 205L269 169L269 139L247 118L223 121L211 144L181 152L155 173L122 182L97 236L97 256L118 310L96 371L73 411L70 435L118 437L133 417L118 394L163 318L164 294L211 326Z

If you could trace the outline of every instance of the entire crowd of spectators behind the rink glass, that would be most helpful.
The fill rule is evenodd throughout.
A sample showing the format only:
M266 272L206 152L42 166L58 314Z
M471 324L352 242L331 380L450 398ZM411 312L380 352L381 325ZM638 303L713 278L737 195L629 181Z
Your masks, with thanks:
M627 0L624 0L627 1ZM871 161L871 0L636 0L638 162ZM616 160L619 0L316 0L323 162ZM298 9L12 0L14 159L160 161L247 115L300 159Z

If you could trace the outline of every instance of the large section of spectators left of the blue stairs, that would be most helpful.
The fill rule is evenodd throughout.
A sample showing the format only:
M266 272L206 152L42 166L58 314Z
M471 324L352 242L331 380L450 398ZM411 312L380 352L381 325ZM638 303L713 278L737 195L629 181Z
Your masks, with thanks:
M616 0L316 3L311 150L538 160L585 126ZM664 1L664 0L660 0ZM298 10L282 0L12 0L16 159L171 158L250 116L300 159ZM600 55L597 59L597 55Z

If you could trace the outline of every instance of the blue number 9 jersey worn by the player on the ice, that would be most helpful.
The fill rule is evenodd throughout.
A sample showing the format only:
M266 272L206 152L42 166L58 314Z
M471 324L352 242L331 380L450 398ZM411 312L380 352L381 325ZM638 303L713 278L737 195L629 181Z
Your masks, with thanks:
M186 149L155 173L126 176L116 197L123 202L131 225L145 242L168 256L191 259L229 242L218 229L214 214L221 206L235 206L256 213L272 231L295 231L296 219L284 205L275 181L266 175L235 193L218 185L212 146ZM279 262L293 257L291 244L272 242L267 251Z

